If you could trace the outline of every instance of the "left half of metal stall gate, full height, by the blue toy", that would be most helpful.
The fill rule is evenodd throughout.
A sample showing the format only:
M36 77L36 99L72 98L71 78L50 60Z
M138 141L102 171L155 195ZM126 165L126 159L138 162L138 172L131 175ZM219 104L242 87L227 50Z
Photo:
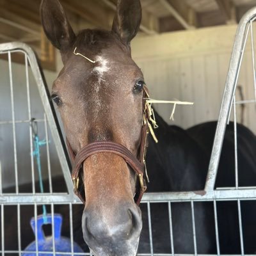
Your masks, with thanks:
M60 232L54 228L54 221L60 221L59 216L55 218L54 215L58 212L63 215L61 234L64 232L66 237L70 237L70 248L66 254L70 252L68 255L74 255L76 239L73 232L73 211L76 211L74 206L79 200L73 193L67 155L63 150L65 146L49 100L51 97L44 74L35 52L26 44L1 44L0 54L3 57L0 60L1 254L38 255L38 239L42 230L34 223L35 234L33 233L31 218L37 220L42 212L48 212L45 214L46 222L53 225L48 231L44 231L54 237L54 232ZM22 65L13 63L12 58L19 58ZM36 150L35 138L38 139L37 149L41 152L40 165L33 156ZM42 169L41 173L37 172L38 166ZM63 179L56 180L52 175L54 169L60 170L59 174L62 173ZM6 187L6 183L10 186ZM77 223L81 223L81 212L79 215ZM33 249L24 252L24 248L32 241L35 241ZM50 255L58 253L54 243L55 240L52 239L52 249L48 252ZM65 255L65 252L61 254ZM89 252L84 254L76 251L76 255L79 254L91 255Z

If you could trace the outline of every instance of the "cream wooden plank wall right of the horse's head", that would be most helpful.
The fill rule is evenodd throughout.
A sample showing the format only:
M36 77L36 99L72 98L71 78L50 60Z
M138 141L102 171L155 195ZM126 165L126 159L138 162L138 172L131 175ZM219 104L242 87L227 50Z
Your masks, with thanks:
M132 42L132 56L143 71L152 98L195 102L193 106L177 106L174 121L170 120L172 106L156 104L166 122L188 128L218 118L236 28L166 33ZM244 98L253 99L252 54L248 46L238 84ZM237 106L237 115L240 121L241 106ZM256 133L253 116L254 104L246 105L244 124Z

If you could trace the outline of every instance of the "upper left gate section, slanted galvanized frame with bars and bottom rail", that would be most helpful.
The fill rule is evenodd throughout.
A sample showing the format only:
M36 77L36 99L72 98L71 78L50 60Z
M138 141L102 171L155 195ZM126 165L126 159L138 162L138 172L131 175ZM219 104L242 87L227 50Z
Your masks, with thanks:
M25 63L25 74L26 74L26 88L27 88L27 100L28 100L28 119L27 120L16 120L15 118L15 109L14 109L14 99L13 99L13 72L12 72L12 53L21 53L24 54L24 63ZM51 202L60 202L60 203L69 203L69 202L79 202L78 198L73 193L73 184L70 177L70 171L68 167L67 154L65 153L65 146L63 140L61 140L60 127L58 127L58 121L56 119L56 113L52 106L50 95L47 89L47 84L45 83L44 73L42 72L42 68L40 67L40 63L38 62L38 58L36 57L35 52L26 44L13 42L8 44L0 44L0 54L8 54L8 67L9 67L9 77L10 77L10 94L11 94L11 102L12 102L12 120L0 120L0 125L4 124L12 124L13 130L13 155L14 155L14 163L15 163L15 193L14 194L6 194L0 191L0 202L4 202L4 204L34 204L34 203L42 203L45 204ZM34 160L33 160L33 141L32 141L32 129L29 127L30 134L30 155L31 155L31 175L32 175L32 185L33 185L33 193L31 195L24 195L19 193L19 179L18 179L18 168L17 168L17 145L16 145L16 124L19 123L29 123L31 116L31 96L30 96L30 84L29 84L29 68L31 68L31 72L33 72L33 76L36 81L36 85L38 87L38 92L40 94L42 104L44 106L45 116L43 120L36 119L36 122L43 122L45 125L45 134L47 141L47 162L48 162L48 172L49 172L49 180L50 180L50 191L52 191L51 184L51 164L50 164L50 156L49 156L49 140L48 140L48 131L47 125L49 125L52 140L54 140L54 145L56 146L56 150L58 153L58 157L60 159L61 168L63 170L63 176L65 178L65 182L67 184L68 193L51 193L51 194L36 194L35 193L35 172L34 172Z

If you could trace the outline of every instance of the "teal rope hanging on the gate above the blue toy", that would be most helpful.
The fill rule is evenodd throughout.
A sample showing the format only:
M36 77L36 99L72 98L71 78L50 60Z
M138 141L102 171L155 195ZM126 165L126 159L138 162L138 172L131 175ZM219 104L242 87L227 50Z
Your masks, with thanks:
M34 148L33 156L36 157L36 164L38 170L38 177L39 177L39 185L40 185L40 192L44 193L44 184L42 178L42 168L41 168L41 159L40 159L40 147L46 144L45 140L40 141L37 134L34 134ZM47 223L47 211L46 206L43 205L43 220L44 223Z

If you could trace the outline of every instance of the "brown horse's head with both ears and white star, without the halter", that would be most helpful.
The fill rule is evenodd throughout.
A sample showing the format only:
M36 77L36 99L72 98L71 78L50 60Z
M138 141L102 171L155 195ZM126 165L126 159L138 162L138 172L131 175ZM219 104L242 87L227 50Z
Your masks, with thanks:
M118 0L111 31L74 34L58 0L42 0L45 34L60 49L64 67L52 86L74 152L95 141L113 141L138 155L143 113L143 74L130 42L141 21L140 0ZM74 54L74 50L81 55ZM86 58L88 59L86 59ZM141 212L134 202L136 175L109 152L83 163L84 240L95 255L136 255Z

